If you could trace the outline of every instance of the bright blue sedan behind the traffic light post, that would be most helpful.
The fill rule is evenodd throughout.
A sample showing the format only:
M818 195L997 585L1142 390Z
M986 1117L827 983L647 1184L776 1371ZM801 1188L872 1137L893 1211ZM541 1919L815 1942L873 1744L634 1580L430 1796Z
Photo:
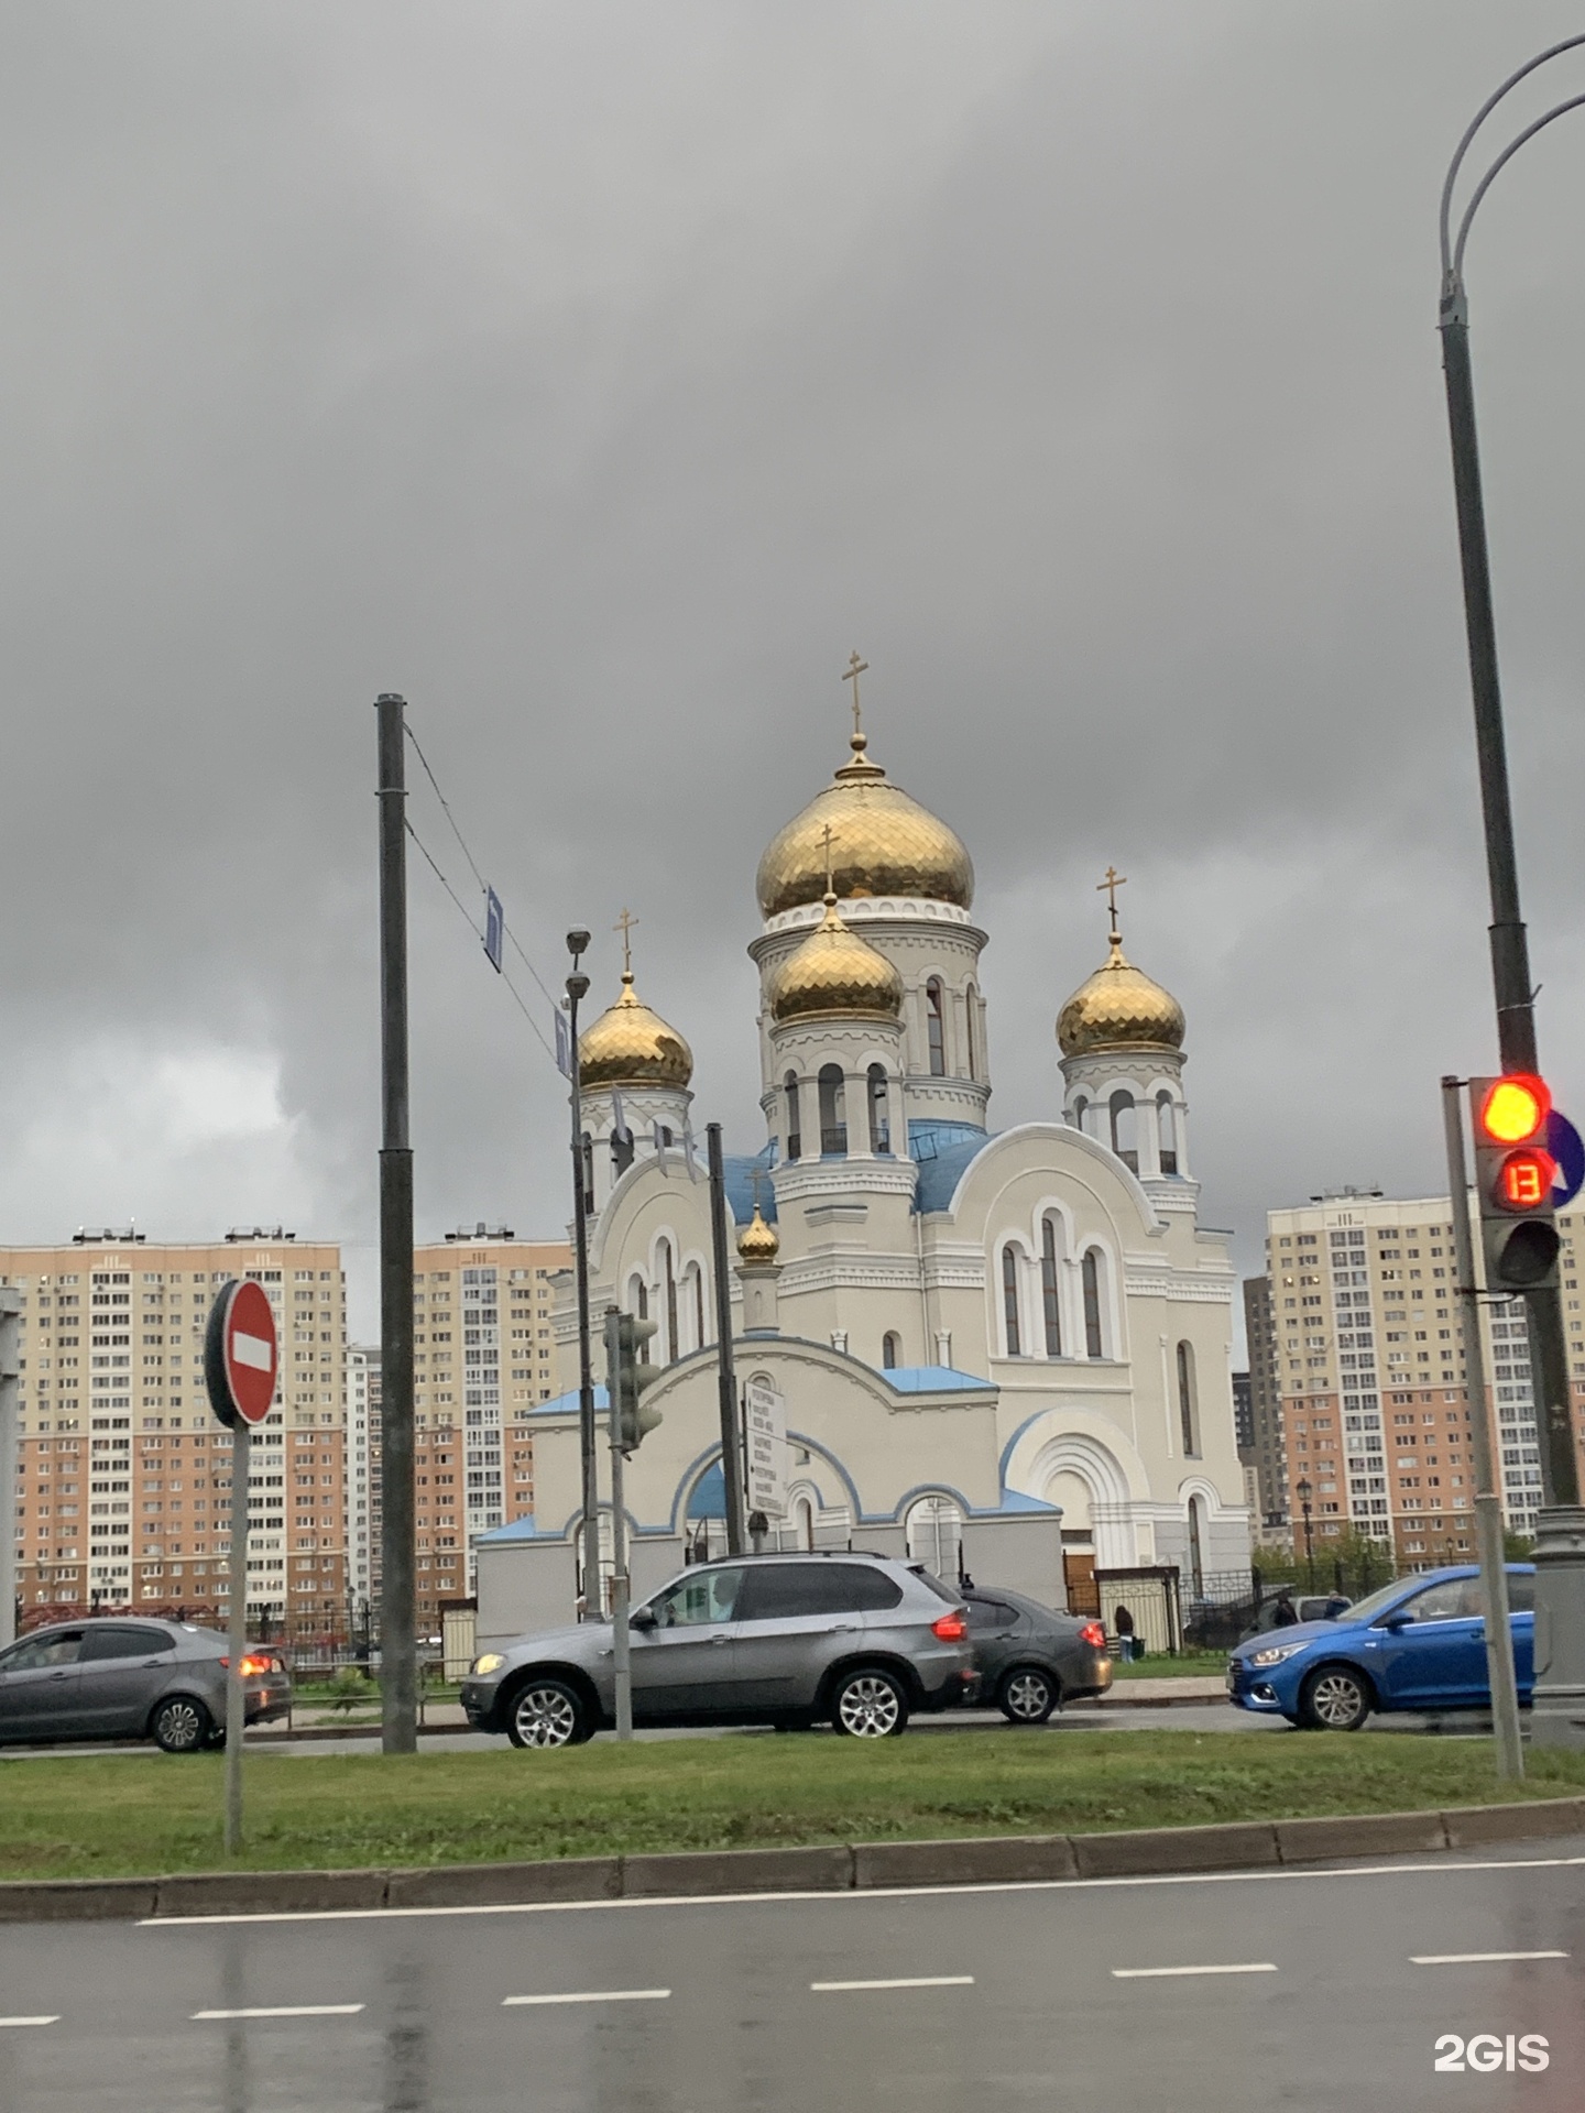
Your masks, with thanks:
M1528 1703L1536 1574L1532 1564L1507 1570L1513 1671ZM1372 1709L1490 1707L1479 1570L1399 1578L1334 1621L1247 1638L1228 1659L1228 1699L1304 1731L1359 1731Z

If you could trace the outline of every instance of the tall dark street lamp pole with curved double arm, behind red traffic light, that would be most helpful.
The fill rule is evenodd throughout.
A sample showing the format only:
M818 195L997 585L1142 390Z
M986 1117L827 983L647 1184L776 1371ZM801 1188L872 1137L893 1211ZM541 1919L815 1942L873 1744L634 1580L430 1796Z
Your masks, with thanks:
M1505 1071L1539 1071L1534 987L1530 949L1519 915L1519 866L1513 849L1513 805L1509 799L1507 744L1503 733L1503 691L1496 672L1496 625L1492 619L1492 575L1486 545L1479 448L1475 440L1475 382L1469 361L1469 298L1465 289L1465 247L1481 199L1498 171L1539 131L1585 106L1585 95L1555 104L1526 125L1492 161L1475 184L1454 228L1452 199L1475 133L1536 68L1564 51L1585 44L1570 36L1551 44L1486 97L1448 167L1441 186L1441 366L1448 387L1448 433L1452 442L1454 499L1458 509L1458 558L1465 585L1465 632L1469 640L1469 682L1475 704L1475 754L1479 761L1481 820L1486 830L1486 875L1492 898L1492 985L1496 993L1496 1046ZM1465 1196L1452 1196L1458 1217ZM1568 1397L1568 1338L1555 1278L1526 1291L1530 1346L1541 1388L1541 1475L1543 1511L1536 1519L1536 1633L1547 1644L1536 1652L1532 1741L1536 1745L1585 1747L1585 1509L1579 1502L1579 1460ZM1475 1373L1471 1371L1471 1382ZM1473 1403L1479 1414L1486 1405ZM1545 1661L1543 1661L1545 1659Z

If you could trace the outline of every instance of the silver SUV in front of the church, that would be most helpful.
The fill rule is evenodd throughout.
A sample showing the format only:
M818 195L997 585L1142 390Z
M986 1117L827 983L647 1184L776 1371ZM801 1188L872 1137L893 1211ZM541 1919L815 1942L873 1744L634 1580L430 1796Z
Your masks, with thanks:
M820 1720L854 1739L947 1709L974 1678L968 1614L919 1564L885 1555L735 1555L695 1564L632 1612L636 1724ZM611 1623L524 1635L463 1682L473 1731L577 1745L615 1722Z

